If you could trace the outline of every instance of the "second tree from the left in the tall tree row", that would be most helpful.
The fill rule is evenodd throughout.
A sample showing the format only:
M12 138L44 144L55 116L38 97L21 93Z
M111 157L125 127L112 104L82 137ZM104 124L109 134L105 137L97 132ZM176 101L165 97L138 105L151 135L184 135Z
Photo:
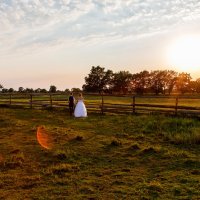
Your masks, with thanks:
M114 74L113 90L116 92L127 93L130 87L132 74L129 71L120 71Z

